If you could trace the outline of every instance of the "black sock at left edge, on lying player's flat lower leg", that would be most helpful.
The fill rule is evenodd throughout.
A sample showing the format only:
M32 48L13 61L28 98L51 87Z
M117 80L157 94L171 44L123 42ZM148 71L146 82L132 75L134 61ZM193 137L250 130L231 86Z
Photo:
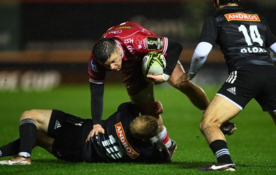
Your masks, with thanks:
M2 147L0 147L0 157L17 155L19 153L19 147L19 138L11 143L8 143L8 145L3 145Z

